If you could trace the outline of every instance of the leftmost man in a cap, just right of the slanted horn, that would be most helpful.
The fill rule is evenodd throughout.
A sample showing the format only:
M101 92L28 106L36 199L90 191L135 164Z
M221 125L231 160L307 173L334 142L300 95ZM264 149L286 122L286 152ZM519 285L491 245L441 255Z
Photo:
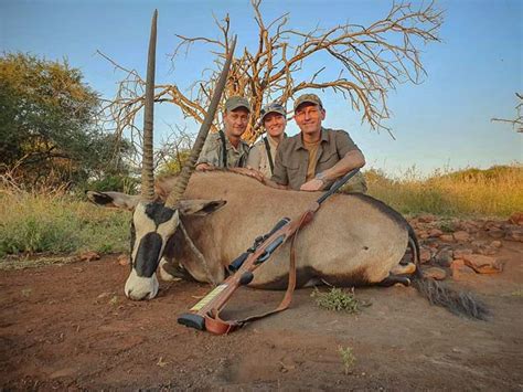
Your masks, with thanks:
M248 145L242 140L247 129L250 105L247 98L232 96L225 102L224 129L210 134L196 162L196 170L242 168L247 161Z

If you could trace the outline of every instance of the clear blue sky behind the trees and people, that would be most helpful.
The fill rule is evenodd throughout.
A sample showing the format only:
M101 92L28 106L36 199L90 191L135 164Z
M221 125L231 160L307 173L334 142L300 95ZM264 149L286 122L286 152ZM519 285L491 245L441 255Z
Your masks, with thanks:
M386 0L279 0L264 1L260 9L265 21L289 12L290 28L309 31L346 22L369 25L384 18L391 4ZM441 0L436 7L445 14L441 42L419 46L427 75L420 84L401 84L388 94L392 115L385 125L396 139L362 124L362 114L331 92L319 92L327 109L323 125L348 130L367 167L389 174L413 168L429 174L436 169L521 163L523 134L491 118L514 118L514 93L523 93L523 1ZM159 11L157 84L188 88L213 65L205 45L178 57L174 67L170 57L179 43L175 34L220 38L213 15L223 19L230 14L238 49L256 45L258 30L247 0L0 0L0 51L66 59L83 72L90 87L111 98L124 74L96 52L145 75L154 8ZM327 76L341 68L322 57L311 59L308 66L327 66ZM186 126L194 133L199 128L173 105L157 108L154 121L156 140L167 135L170 125ZM287 133L298 130L290 120Z

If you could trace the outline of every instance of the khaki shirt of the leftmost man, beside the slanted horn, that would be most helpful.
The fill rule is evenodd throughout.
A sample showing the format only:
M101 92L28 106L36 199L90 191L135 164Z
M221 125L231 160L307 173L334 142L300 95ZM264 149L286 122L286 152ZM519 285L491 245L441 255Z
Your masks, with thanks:
M245 141L239 140L238 148L235 148L225 136L225 148L227 150L227 168L245 167L248 155L248 145ZM220 134L209 134L196 165L207 163L224 169L222 151L223 144Z

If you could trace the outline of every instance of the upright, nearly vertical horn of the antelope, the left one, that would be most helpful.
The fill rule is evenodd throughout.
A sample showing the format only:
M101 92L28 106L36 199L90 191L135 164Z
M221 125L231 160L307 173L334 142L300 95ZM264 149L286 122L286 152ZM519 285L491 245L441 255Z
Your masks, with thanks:
M146 103L143 109L143 156L141 159L141 199L154 199L154 173L152 170L152 123L154 117L154 68L157 52L157 19L154 10L149 39L149 55L147 60Z

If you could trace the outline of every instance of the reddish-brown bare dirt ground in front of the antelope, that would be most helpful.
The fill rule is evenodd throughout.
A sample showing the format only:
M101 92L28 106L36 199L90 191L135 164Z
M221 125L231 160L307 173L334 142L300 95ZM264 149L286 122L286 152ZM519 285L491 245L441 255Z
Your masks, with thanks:
M503 241L497 275L448 280L477 293L488 321L430 306L414 288L357 288L360 315L289 310L230 336L177 324L209 286L161 283L154 300L124 296L116 256L0 272L2 390L523 390L523 243ZM241 289L233 312L274 307L282 293ZM345 374L339 347L352 348Z

